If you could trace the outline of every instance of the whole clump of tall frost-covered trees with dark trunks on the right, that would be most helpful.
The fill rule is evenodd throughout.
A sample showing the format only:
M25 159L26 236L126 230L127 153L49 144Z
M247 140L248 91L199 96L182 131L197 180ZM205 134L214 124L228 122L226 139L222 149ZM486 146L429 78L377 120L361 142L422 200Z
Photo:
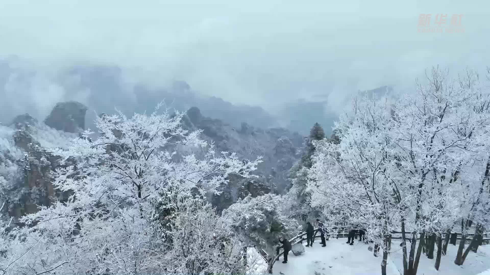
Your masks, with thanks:
M364 226L384 252L390 232L401 229L404 275L417 274L423 248L432 258L436 241L439 268L441 235L456 220L463 230L457 264L488 227L489 90L475 76L452 82L433 68L414 94L385 103L356 100L336 125L340 143L315 143L312 206ZM472 222L476 234L463 254ZM385 272L383 266L385 260Z

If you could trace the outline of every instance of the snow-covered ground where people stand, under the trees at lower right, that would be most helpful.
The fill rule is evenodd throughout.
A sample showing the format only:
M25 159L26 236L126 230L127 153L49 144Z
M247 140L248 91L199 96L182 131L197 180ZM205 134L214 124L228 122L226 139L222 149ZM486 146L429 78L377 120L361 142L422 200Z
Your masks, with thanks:
M305 252L294 256L289 253L288 263L282 263L282 257L274 263L274 275L380 275L382 255L374 257L368 251L367 244L354 242L348 245L347 239L330 239L326 247L319 241L313 247L306 247ZM303 242L305 245L305 242ZM403 263L399 243L392 244L393 253L388 259L387 275L403 274ZM441 268L434 268L435 259L421 255L417 274L420 275L477 275L490 268L490 247L480 247L478 253L470 252L463 266L453 263L457 247L449 245L448 254L442 256Z

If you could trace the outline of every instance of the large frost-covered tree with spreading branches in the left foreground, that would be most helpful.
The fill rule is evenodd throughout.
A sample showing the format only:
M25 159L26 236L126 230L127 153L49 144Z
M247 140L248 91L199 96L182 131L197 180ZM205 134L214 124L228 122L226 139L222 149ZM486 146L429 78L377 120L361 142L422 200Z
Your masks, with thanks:
M228 175L248 176L260 160L215 155L212 146L202 159L176 156L169 151L176 146L207 146L199 131L182 129L181 118L157 111L132 118L103 115L95 121L97 139L92 141L86 131L69 150L56 150L62 164L77 160L60 168L53 183L72 195L66 203L54 202L21 219L28 227L18 230L12 249L0 258L4 274L161 274L165 268L191 274L204 262L202 272L236 271L233 261L214 258L219 253L237 259L236 241L227 239L219 218L195 196L214 191ZM173 200L180 210L155 219L155 207L166 204L169 190L181 198ZM166 236L189 246L186 261L178 255L182 247L164 253L157 245L162 235L155 229L165 219L171 219ZM204 226L204 220L210 224ZM208 243L211 247L198 249L209 240L215 240ZM224 267L224 261L230 265Z

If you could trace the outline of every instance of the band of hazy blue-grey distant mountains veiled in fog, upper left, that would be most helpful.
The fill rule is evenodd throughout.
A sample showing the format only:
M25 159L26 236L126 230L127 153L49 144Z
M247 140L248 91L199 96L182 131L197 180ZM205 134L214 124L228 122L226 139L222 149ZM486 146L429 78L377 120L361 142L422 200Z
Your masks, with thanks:
M126 83L122 70L115 66L77 66L50 79L43 78L47 76L39 71L15 68L11 61L3 61L0 66L4 87L0 96L6 99L0 105L3 123L24 113L42 120L56 102L76 100L89 107L86 124L90 126L102 112L114 113L115 109L126 115L151 112L163 100L171 110L184 112L196 106L205 115L223 119L234 126L240 126L242 122L262 128L278 126L275 117L261 107L233 105L218 97L199 94L185 81L154 88L145 83ZM19 96L25 92L33 92L37 97Z

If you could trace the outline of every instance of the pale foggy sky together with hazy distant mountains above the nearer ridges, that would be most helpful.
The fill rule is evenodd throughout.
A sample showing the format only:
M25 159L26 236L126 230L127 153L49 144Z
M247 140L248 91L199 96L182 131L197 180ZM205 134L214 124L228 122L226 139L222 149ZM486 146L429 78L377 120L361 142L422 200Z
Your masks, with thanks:
M92 119L94 110L141 111L166 99L180 111L199 102L230 123L307 133L318 120L328 132L353 92L410 90L432 65L484 68L488 5L4 0L1 121L44 118L64 100L86 104ZM417 33L425 13L463 14L465 32Z

